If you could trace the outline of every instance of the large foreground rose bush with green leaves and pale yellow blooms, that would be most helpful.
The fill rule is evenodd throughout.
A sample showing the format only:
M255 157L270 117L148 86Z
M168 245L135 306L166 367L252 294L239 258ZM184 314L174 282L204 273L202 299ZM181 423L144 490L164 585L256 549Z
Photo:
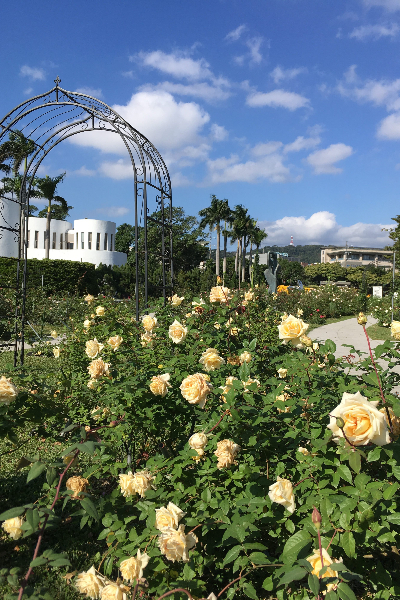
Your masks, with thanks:
M141 576L149 598L177 587L196 598L399 596L400 452L385 416L390 407L400 417L391 393L399 376L378 364L378 383L369 357L350 374L329 340L282 344L298 339L306 312L294 317L303 322L296 335L279 338L282 312L253 293L247 305L243 292L226 301L185 293L179 306L154 302L139 323L130 303L102 298L98 315L94 300L51 358L54 380L6 374L16 394L0 405L1 431L16 436L37 411L41 435L59 444L55 459L25 457L32 497L10 498L0 515L4 523L21 519L18 544L31 556L44 525L59 532L56 551L65 554L55 557L43 542L35 577L59 568L81 598L130 599ZM179 344L169 335L175 320L187 329ZM142 345L143 335L151 344ZM107 343L116 336L117 351ZM86 353L90 340L102 345L95 359ZM390 365L400 357L395 341L375 352ZM85 481L68 490L70 478ZM65 522L99 550L78 558L63 548ZM8 561L16 566L19 557L2 531L10 557L0 577L10 579L0 590L16 598L24 573L11 573ZM41 593L38 579L29 585L24 597Z

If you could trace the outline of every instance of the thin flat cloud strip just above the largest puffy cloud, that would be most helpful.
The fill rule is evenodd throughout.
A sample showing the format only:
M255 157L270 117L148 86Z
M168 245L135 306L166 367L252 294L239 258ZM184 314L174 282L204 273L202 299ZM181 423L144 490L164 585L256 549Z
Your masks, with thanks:
M205 81L197 81L195 83L172 83L171 81L163 81L156 85L146 84L142 86L140 91L155 91L162 90L177 96L192 96L201 98L206 102L217 102L226 100L231 96L229 90L230 83L226 79L216 79L211 84Z

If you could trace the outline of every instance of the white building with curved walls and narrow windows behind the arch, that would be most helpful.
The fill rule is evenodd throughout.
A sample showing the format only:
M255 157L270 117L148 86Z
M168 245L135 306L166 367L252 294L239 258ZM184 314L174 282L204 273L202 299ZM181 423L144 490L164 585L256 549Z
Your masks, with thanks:
M0 226L16 227L19 220L19 205L2 200L4 221ZM0 221L1 218L0 211ZM18 256L18 242L16 235L8 230L2 230L0 237L0 256ZM28 219L28 258L43 259L45 257L44 238L46 232L46 219L29 217ZM96 267L105 265L121 266L126 263L126 254L115 251L116 225L112 221L97 219L77 219L74 226L68 221L52 219L50 222L50 251L52 260L63 259L78 262L89 262Z

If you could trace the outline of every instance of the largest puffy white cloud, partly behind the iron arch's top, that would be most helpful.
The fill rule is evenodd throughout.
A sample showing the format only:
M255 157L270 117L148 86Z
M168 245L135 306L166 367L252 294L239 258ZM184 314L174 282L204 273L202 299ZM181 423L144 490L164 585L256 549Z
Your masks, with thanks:
M163 153L203 143L200 134L210 120L209 114L198 104L177 102L171 94L160 90L138 92L127 104L114 105L113 108ZM102 152L126 155L120 137L113 133L87 132L69 140Z

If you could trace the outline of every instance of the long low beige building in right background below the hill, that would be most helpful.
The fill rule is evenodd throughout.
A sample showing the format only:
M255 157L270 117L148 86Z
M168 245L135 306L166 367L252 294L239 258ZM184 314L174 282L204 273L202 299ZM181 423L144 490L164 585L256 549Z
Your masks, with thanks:
M356 246L322 246L322 263L339 263L342 267L364 267L373 264L383 269L392 269L392 250L382 248L360 248Z

